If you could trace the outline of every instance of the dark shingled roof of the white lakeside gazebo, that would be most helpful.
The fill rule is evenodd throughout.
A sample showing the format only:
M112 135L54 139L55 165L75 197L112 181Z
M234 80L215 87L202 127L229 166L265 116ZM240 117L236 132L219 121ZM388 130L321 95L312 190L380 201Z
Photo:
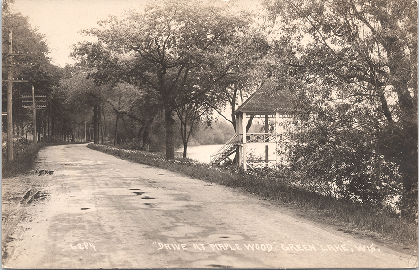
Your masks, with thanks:
M290 92L278 87L274 81L270 80L243 102L234 114L240 112L249 115L284 113L290 108L290 102Z

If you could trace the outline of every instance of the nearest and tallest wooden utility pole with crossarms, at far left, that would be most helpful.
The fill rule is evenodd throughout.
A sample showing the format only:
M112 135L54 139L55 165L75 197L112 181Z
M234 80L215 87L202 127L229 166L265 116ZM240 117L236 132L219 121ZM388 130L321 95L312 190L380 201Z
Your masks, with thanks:
M9 30L9 39L8 39L8 53L5 53L3 55L6 55L8 58L9 63L3 64L2 66L7 66L8 68L8 74L7 74L7 80L3 80L7 82L7 160L11 161L13 160L13 115L12 115L12 103L13 103L13 82L29 82L26 80L15 80L13 78L13 67L33 67L35 65L30 63L14 63L13 62L13 56L39 56L36 54L20 54L19 52L14 53L12 48L12 31Z

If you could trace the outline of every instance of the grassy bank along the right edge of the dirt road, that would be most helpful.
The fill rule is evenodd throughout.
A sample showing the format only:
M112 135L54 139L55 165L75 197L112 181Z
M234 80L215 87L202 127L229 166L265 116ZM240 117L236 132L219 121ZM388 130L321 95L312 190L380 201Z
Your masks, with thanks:
M359 204L307 192L295 186L285 175L257 174L231 167L218 168L191 160L166 161L158 154L105 145L89 144L88 147L132 162L168 169L206 182L242 188L270 200L295 204L301 209L315 211L318 216L330 217L351 227L348 232L367 232L364 235L379 235L381 239L392 240L412 248L417 245L417 223L408 222L386 211L366 209Z

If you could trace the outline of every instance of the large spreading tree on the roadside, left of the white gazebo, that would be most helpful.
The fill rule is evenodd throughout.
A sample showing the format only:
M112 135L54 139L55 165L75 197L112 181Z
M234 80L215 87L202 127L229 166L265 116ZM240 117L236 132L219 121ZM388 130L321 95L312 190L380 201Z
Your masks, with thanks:
M227 3L163 1L144 12L102 21L101 29L86 31L121 53L134 57L133 74L161 96L166 124L166 159L174 159L176 108L197 99L230 72L232 62L220 53L234 44L250 23ZM188 92L196 81L205 88ZM184 99L185 92L188 99Z

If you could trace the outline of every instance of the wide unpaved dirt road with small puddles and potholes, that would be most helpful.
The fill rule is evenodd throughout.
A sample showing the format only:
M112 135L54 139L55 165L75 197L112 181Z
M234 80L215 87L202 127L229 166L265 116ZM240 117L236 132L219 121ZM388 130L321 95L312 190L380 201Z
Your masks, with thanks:
M256 196L124 161L85 145L43 149L37 169L27 180L27 190L32 191L12 209L11 220L3 219L4 267L405 268L417 264L416 257L331 233Z

